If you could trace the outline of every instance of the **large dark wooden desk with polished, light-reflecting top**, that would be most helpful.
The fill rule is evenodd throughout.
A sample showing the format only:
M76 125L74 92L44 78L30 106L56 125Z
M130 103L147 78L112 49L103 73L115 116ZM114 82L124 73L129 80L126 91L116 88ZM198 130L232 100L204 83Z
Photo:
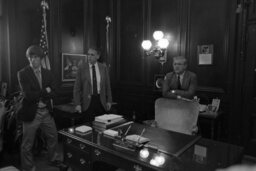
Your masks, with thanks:
M114 129L125 131L128 126L128 124L123 124ZM132 123L129 134L139 134L144 128L146 131L143 136L149 138L151 142L151 146L148 146L148 158L141 158L139 150L131 152L115 148L113 138L96 131L81 136L69 133L67 129L61 130L59 133L63 137L64 161L77 170L91 170L94 162L103 161L129 171L213 171L216 168L227 167L241 161L242 148L231 144L204 138L198 139L196 136L137 123ZM153 148L153 145L156 148ZM196 145L206 148L207 157L203 164L193 159ZM151 159L159 154L165 157L165 163L158 167L150 164Z

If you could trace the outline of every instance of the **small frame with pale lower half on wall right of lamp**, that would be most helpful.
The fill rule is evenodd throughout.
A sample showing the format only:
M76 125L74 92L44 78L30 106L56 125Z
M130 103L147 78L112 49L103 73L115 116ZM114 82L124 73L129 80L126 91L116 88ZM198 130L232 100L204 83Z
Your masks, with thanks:
M198 65L213 65L213 45L198 45Z

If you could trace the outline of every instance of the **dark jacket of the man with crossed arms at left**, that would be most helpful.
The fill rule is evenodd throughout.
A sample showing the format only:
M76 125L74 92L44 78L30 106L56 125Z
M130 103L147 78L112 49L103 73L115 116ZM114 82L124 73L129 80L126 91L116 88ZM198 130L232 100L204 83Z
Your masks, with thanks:
M41 68L41 75L42 89L30 66L18 72L19 85L24 94L22 108L18 112L18 119L22 121L29 122L35 118L39 100L43 101L47 108L52 111L51 99L55 97L56 83L49 70ZM50 93L47 93L46 87L51 88Z

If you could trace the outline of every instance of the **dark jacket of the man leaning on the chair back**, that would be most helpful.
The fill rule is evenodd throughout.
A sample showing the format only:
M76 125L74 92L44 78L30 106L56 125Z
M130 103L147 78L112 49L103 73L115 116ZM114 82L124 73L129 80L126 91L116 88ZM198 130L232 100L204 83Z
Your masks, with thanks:
M177 77L174 72L166 74L163 82L163 97L176 98L177 95L184 98L193 98L197 87L197 76L195 73L185 71L181 90L177 90ZM175 94L171 93L171 90L175 90Z

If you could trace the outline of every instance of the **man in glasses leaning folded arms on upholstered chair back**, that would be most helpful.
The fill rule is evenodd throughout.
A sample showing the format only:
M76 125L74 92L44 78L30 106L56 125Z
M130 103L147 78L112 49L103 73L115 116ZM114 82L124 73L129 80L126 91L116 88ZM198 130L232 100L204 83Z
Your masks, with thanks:
M163 97L192 99L197 87L197 76L187 70L184 56L173 58L173 72L167 73L163 82Z

